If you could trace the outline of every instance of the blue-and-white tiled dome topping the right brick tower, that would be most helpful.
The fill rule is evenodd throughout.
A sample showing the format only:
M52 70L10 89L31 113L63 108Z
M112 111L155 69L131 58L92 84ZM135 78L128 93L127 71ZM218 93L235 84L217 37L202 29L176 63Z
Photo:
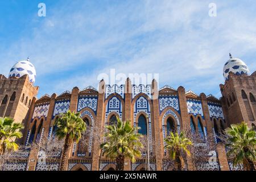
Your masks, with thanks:
M223 76L225 80L229 79L229 72L233 72L236 75L249 75L249 68L247 65L238 58L233 58L229 54L230 59L226 62L223 68Z

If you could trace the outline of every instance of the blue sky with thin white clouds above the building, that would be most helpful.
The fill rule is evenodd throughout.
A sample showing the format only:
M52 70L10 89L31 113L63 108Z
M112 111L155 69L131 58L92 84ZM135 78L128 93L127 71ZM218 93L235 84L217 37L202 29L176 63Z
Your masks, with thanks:
M46 3L46 17L38 3ZM209 3L217 16L208 15ZM74 86L97 87L109 73L159 73L220 97L222 69L234 57L256 70L255 1L0 1L0 73L30 56L38 97Z

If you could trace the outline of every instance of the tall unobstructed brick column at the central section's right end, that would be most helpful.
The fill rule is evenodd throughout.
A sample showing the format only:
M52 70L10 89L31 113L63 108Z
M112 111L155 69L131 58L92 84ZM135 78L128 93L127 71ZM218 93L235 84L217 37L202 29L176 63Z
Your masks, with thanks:
M159 113L159 100L158 100L158 82L154 79L152 81L151 88L152 103L153 103L153 113L152 115L152 126L154 126L155 134L155 152L156 152L156 170L161 171L163 167L163 129L160 122L160 113ZM160 143L160 146L159 146Z

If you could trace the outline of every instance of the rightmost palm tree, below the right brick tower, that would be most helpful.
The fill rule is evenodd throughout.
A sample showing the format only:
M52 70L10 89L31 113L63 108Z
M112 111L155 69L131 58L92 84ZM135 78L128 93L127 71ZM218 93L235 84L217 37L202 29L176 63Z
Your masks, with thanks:
M254 171L256 133L253 128L250 129L247 123L242 122L231 125L225 133L225 146L228 148L227 155L233 158L233 165L243 164L244 169Z

